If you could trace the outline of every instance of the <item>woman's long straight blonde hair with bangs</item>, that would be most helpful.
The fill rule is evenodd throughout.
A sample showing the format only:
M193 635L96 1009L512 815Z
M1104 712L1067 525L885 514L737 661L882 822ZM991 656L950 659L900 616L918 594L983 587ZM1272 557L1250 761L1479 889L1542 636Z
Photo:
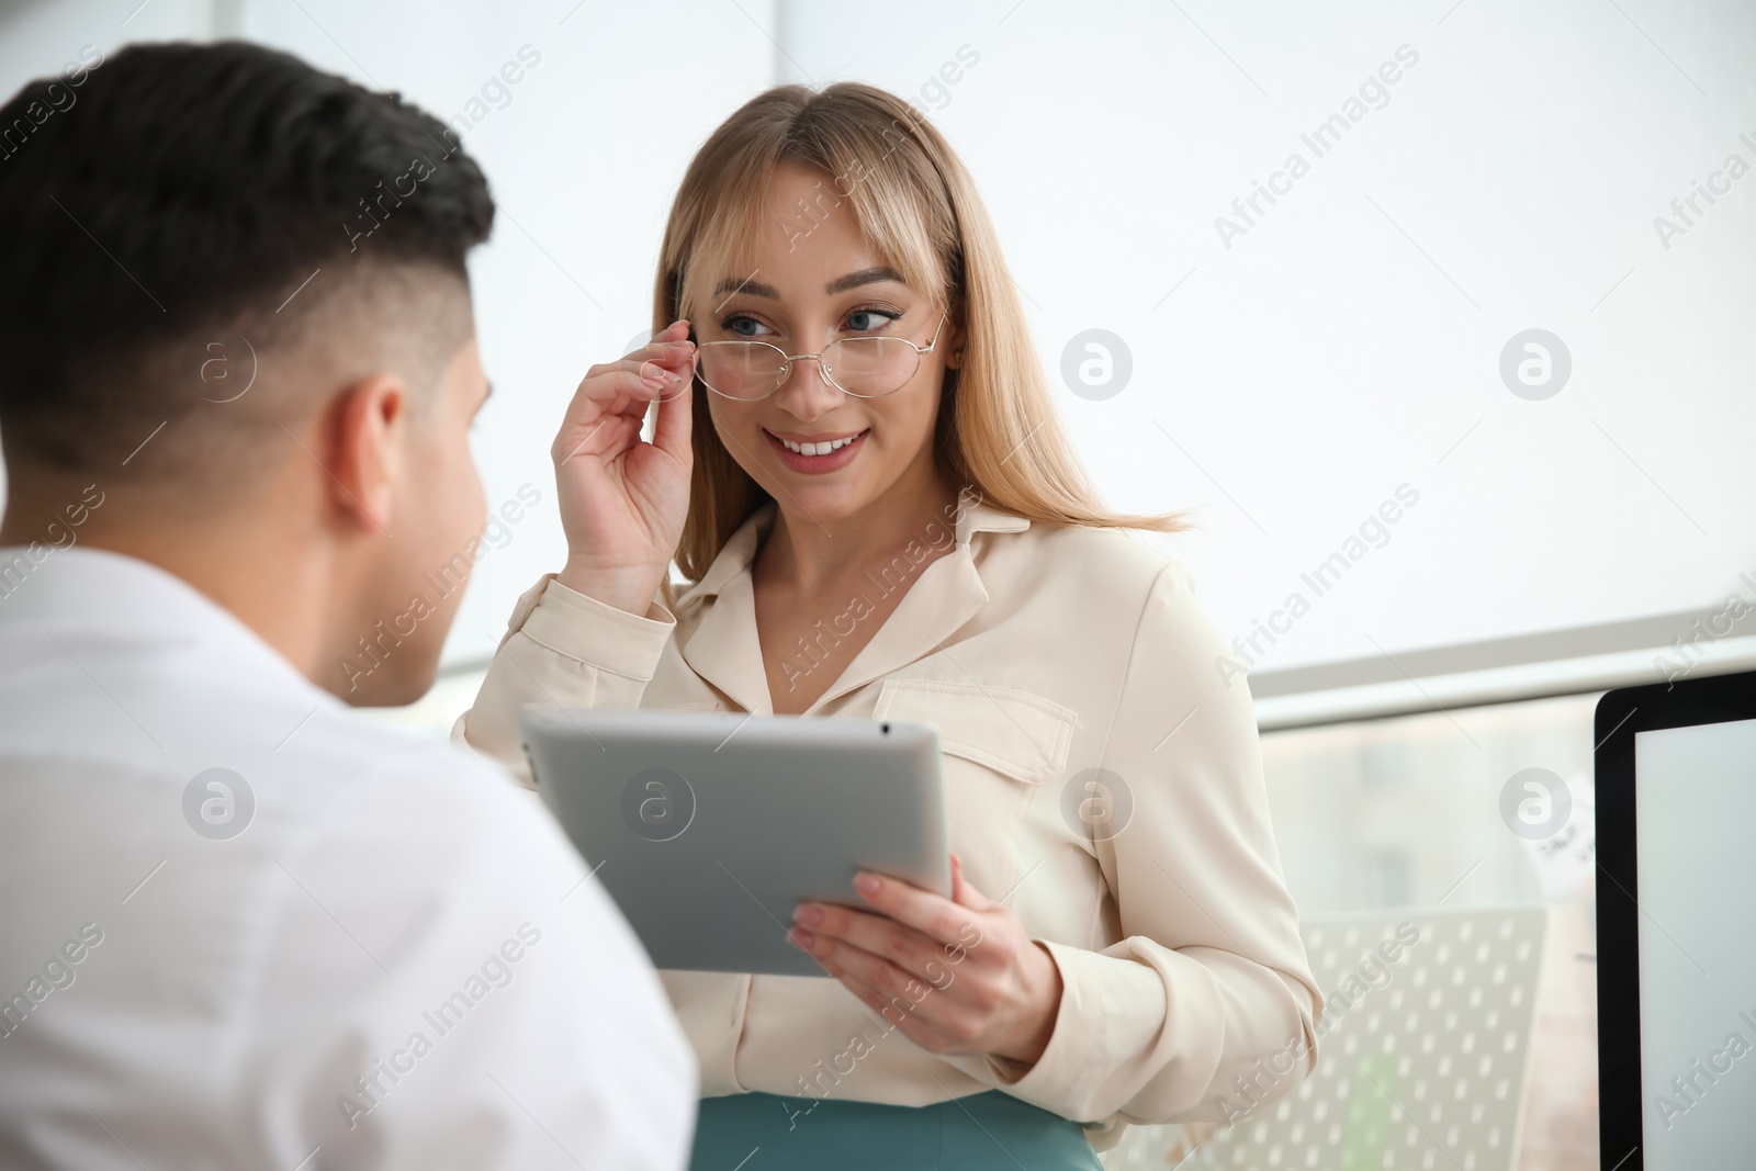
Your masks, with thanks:
M1036 523L1180 532L1187 514L1108 511L1055 414L994 226L962 162L903 98L859 83L776 86L695 153L666 226L653 328L695 318L722 279L753 272L774 170L822 172L910 288L962 304L964 358L945 372L934 456L954 486ZM822 184L820 184L822 186ZM748 279L748 277L746 277ZM694 472L678 567L701 581L727 537L769 500L708 423L695 381Z

